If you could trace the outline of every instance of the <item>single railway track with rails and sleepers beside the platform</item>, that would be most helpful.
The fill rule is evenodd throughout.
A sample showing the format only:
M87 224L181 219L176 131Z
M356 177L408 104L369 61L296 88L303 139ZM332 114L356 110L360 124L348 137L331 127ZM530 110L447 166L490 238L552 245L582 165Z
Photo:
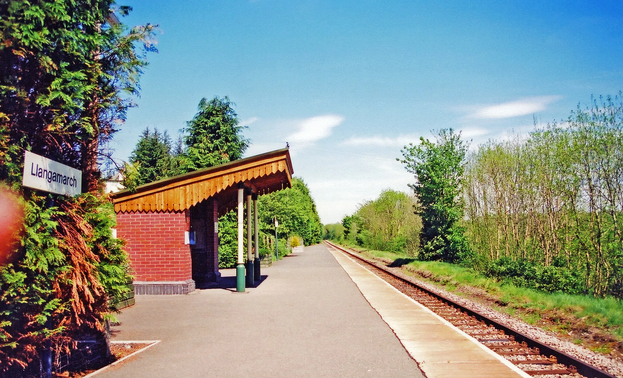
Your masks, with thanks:
M360 265L368 268L397 290L505 357L530 376L616 378L576 357L569 356L526 334L508 328L478 311L465 308L449 298L427 290L408 278L396 275L381 263L370 261L326 240L325 243L347 253Z

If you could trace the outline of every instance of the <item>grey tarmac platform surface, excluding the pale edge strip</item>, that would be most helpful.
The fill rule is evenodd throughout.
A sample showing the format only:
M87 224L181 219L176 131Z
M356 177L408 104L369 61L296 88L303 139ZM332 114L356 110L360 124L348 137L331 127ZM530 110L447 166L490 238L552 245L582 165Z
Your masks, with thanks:
M97 377L422 377L325 245L263 268L245 294L221 273L221 288L136 296L113 340L161 342Z

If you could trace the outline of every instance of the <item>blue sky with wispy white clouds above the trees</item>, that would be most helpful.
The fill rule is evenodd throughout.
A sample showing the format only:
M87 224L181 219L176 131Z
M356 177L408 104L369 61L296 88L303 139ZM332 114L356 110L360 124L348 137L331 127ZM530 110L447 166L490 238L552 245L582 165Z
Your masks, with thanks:
M619 1L128 1L159 54L115 136L177 135L202 97L229 96L247 156L290 143L321 220L413 182L396 158L430 130L476 146L623 90Z

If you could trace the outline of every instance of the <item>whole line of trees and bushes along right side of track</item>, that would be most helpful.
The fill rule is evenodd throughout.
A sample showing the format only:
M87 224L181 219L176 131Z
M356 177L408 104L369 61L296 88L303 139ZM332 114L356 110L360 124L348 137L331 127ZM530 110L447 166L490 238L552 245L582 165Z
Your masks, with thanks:
M384 210L388 197L397 199L385 191L326 225L324 237L460 263L538 290L623 298L620 94L472 153L451 129L435 137L402 150L416 177L411 211ZM419 240L406 231L410 242L389 237L396 224L414 224Z

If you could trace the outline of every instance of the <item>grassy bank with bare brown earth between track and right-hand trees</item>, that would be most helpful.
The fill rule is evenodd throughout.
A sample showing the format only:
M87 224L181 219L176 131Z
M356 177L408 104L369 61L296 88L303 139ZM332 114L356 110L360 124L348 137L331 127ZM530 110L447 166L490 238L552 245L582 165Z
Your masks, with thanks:
M422 262L412 257L347 245L390 267L483 303L584 344L596 352L621 358L623 353L623 303L614 298L545 293L497 282L468 267L443 262Z

